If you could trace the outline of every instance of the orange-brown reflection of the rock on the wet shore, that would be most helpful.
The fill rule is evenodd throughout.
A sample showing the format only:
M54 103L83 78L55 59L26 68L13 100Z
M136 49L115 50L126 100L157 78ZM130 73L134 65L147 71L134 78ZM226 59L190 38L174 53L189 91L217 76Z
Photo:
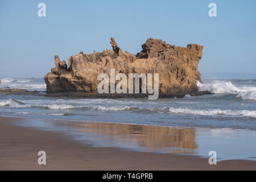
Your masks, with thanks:
M139 147L174 148L178 153L186 152L182 149L192 152L191 150L198 148L195 142L195 129L102 122L69 123L68 126L75 127L79 131L104 135L104 138L110 140L135 142Z

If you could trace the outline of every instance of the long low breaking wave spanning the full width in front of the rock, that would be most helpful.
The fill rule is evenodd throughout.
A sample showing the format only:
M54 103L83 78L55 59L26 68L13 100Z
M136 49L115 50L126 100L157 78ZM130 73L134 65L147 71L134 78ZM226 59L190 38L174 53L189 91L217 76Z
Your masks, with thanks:
M256 110L232 110L232 109L189 109L187 107L141 107L141 106L75 106L71 104L24 104L23 102L9 99L0 101L0 106L5 107L44 107L50 110L65 109L92 109L98 111L131 111L146 113L173 113L173 114L192 114L192 115L228 115L234 117L253 117L256 118Z

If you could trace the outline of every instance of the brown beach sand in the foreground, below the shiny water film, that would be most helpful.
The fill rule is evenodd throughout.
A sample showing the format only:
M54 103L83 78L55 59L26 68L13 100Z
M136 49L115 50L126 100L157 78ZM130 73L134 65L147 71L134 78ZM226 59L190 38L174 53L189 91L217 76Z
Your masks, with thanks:
M21 120L0 117L0 170L256 170L256 161L250 160L223 160L209 165L208 158L191 155L93 147L61 132L15 125ZM144 132L150 136L150 126L147 130ZM46 165L38 164L38 151L46 151Z

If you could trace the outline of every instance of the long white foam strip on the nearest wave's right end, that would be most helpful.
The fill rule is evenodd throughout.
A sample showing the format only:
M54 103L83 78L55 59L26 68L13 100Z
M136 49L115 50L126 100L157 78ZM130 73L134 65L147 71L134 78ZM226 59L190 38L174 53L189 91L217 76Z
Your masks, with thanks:
M256 110L221 110L221 109L189 109L181 107L170 107L169 111L175 114L193 114L193 115L231 115L240 117L256 118Z

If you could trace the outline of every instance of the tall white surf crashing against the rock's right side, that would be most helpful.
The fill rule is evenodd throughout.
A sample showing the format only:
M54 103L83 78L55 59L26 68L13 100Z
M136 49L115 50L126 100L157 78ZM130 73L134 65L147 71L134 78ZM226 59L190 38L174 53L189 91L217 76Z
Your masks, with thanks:
M243 100L256 100L256 87L254 86L235 86L230 81L213 81L208 84L201 84L197 81L200 91L208 90L210 93L232 93Z

